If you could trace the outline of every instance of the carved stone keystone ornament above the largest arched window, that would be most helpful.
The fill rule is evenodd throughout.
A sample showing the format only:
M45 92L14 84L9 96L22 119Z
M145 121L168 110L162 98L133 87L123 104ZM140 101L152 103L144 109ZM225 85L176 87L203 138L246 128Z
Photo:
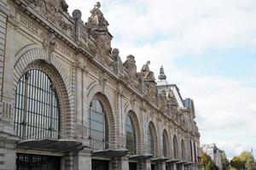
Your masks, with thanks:
M55 51L55 34L42 32L41 37L43 37L43 48L47 55L48 62L52 57L52 53Z

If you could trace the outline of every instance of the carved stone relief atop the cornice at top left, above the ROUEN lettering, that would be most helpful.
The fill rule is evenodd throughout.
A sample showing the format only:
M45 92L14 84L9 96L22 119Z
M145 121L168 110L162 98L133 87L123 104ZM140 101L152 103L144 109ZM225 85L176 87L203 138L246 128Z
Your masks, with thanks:
M35 6L35 9L43 14L56 26L60 26L63 30L72 30L73 26L68 24L62 13L67 13L68 5L65 0L27 0Z

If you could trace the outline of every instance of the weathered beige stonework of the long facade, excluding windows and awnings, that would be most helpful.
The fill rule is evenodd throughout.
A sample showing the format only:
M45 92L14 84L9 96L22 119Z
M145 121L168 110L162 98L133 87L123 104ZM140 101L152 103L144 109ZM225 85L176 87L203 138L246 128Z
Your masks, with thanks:
M111 47L113 37L108 32L108 21L100 3L92 8L84 25L79 10L73 11L73 17L67 14L64 0L7 2L9 6L0 2L0 169L16 169L11 162L15 162L17 151L24 151L15 145L22 140L14 136L15 93L20 77L31 69L44 71L55 87L60 103L60 138L76 139L84 145L84 150L65 155L54 153L62 157L61 169L91 169L92 99L99 99L106 112L111 150L125 149L125 120L131 116L137 157L145 158L137 161L138 169L151 168L149 125L154 128L156 160L165 160L162 157L166 132L167 157L174 159L173 148L177 148L178 161L185 159L196 165L200 133L194 122L195 111L182 104L177 87L155 82L149 62L137 72L133 55L127 56L124 63L121 61L119 50ZM173 144L174 136L177 145ZM181 141L185 143L185 157L182 157ZM191 144L195 144L193 153L190 153ZM50 155L47 150L26 151ZM111 158L109 165L112 169L128 169L129 155ZM164 169L165 165L160 162L156 167ZM169 167L172 166L175 164Z

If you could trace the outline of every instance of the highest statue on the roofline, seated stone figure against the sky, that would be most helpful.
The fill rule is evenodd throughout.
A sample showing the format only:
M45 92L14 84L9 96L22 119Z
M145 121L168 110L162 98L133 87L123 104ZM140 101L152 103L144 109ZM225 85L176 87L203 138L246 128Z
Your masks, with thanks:
M100 8L101 3L97 2L94 8L90 10L91 15L88 22L85 23L88 30L108 31L108 21L104 18Z

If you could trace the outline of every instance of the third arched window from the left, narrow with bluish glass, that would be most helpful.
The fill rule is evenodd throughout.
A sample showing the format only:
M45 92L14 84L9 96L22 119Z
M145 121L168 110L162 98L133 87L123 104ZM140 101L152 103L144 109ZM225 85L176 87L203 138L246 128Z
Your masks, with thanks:
M126 131L126 149L131 152L132 155L136 155L136 132L132 122L131 116L126 117L125 121Z

